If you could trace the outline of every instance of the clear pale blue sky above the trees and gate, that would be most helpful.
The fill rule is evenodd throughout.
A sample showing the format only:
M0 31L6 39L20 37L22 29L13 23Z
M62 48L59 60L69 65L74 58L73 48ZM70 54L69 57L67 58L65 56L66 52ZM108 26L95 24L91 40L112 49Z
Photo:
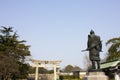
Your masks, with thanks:
M105 42L120 37L120 0L0 0L0 26L11 26L40 60L84 68L91 29Z

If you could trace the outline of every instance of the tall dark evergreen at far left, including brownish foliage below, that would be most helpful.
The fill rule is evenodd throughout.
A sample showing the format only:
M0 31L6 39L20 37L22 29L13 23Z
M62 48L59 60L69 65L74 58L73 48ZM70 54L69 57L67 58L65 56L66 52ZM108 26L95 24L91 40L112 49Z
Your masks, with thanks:
M27 77L29 65L26 64L26 56L30 56L29 46L25 45L25 40L18 38L12 27L2 26L0 29L0 63L3 68L0 69L0 77L3 80L8 77L12 80Z

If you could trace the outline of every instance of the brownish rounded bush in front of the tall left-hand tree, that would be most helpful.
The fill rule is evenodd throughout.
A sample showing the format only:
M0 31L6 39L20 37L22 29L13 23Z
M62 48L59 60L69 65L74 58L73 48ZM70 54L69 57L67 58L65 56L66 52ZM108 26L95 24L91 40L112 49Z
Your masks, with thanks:
M0 52L0 80L7 80L11 73L19 73L18 64L15 63L13 57L8 57Z

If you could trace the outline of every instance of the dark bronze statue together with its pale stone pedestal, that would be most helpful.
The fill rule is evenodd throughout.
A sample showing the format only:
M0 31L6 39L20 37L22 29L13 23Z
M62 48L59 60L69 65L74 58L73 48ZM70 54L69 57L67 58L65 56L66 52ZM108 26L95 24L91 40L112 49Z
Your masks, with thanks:
M87 49L82 51L89 51L89 58L92 63L92 68L84 77L84 80L108 80L108 77L100 70L100 52L102 51L102 43L100 37L95 35L93 30L90 31L87 41Z

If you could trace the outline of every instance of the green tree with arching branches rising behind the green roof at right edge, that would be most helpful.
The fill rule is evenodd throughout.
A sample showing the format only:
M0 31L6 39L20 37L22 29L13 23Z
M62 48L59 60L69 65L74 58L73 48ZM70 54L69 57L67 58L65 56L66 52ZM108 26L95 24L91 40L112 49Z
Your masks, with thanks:
M107 61L120 58L120 37L108 40L106 45L110 45L106 59Z

